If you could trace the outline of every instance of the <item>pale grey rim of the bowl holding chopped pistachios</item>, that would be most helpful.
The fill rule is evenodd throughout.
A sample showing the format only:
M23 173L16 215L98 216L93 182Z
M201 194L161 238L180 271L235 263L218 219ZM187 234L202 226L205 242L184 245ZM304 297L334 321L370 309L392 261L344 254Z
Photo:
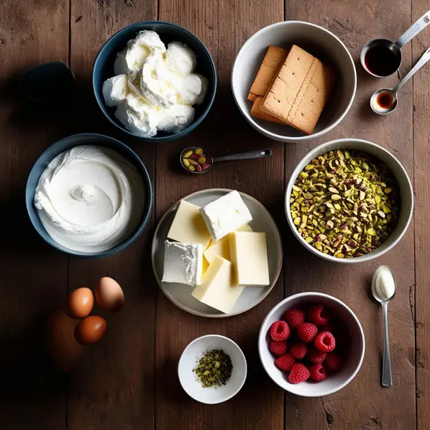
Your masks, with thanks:
M409 208L409 215L407 217L407 222L406 222L405 228L403 228L403 230L401 230L399 237L397 237L390 246L385 248L385 250L378 251L378 248L376 248L374 251L369 252L368 254L365 254L363 256L357 256L357 257L354 257L353 259L338 259L337 257L331 256L328 254L324 254L323 252L318 251L313 246L310 246L309 243L307 243L305 241L305 239L303 239L303 237L301 237L301 235L299 235L299 232L297 231L296 226L294 226L294 224L292 223L292 219L291 219L290 204L289 204L291 193L288 194L288 189L292 189L292 185L294 184L297 176L299 176L299 173L303 169L303 167L301 169L299 169L299 166L303 163L303 160L305 158L308 158L311 155L312 155L312 158L315 158L318 155L324 154L325 152L327 152L327 150L325 150L325 148L327 146L333 145L333 144L338 145L338 148L342 149L342 143L346 143L346 142L364 143L364 145L366 145L368 147L377 147L378 150L385 152L385 154L387 154L390 158L392 158L394 163L396 163L399 166L399 168L401 169L401 171L403 171L403 174L405 175L405 178L407 180L407 190L409 191L409 194L411 196L411 207ZM365 149L361 149L361 151L366 152ZM376 158L378 158L378 157L376 157ZM325 259L327 261L331 261L332 263L339 263L339 264L366 263L366 261L371 261L371 260L377 259L380 256L382 256L383 254L385 254L385 252L390 251L392 248L394 248L394 246L397 245L397 243L399 243L399 241L402 239L403 235L405 235L405 232L406 232L407 228L409 227L409 224L410 224L411 219L412 219L412 215L414 213L414 189L412 188L412 183L411 183L411 180L409 179L409 176L407 174L405 167L403 167L402 163L393 154L391 154L390 151L385 150L385 148L381 147L380 145L377 145L377 143L365 141L363 139L353 139L353 138L336 139L334 141L329 141L326 143L322 143L321 145L318 145L314 150L312 150L311 152L308 152L299 161L299 163L297 163L296 167L294 167L294 170L292 171L290 179L287 182L287 187L285 190L284 206L285 206L285 211L286 211L287 222L288 222L288 225L290 226L290 228L294 234L294 237L296 237L296 239L308 251L312 252L313 254L315 254L316 256L319 256L322 259Z

